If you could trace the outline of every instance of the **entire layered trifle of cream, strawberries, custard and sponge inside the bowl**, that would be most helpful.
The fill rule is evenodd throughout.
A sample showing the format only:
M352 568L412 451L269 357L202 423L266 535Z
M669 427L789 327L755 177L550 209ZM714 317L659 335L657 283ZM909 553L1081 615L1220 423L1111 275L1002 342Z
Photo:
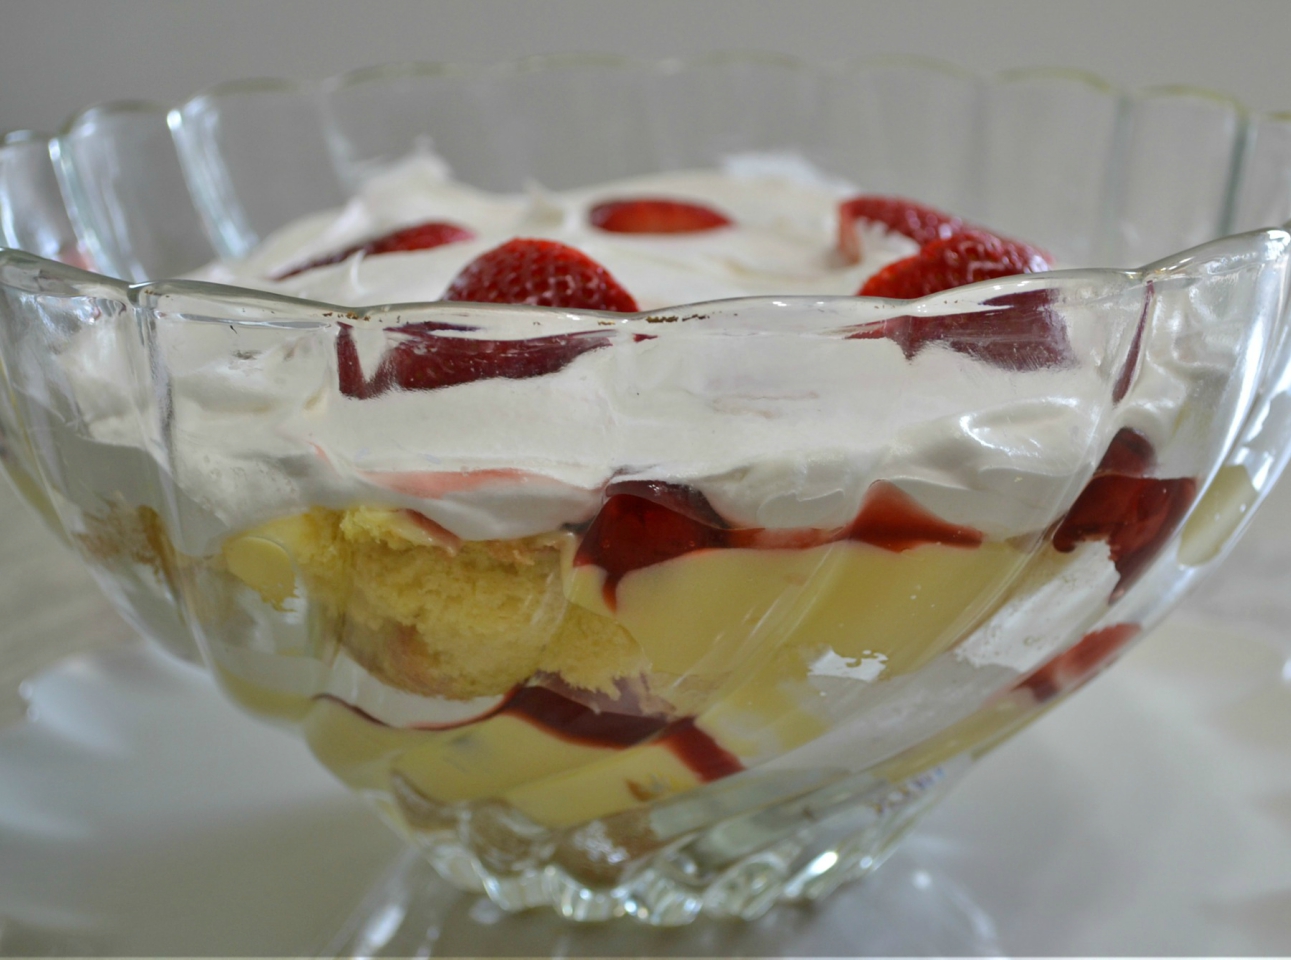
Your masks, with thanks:
M493 195L418 157L201 272L337 310L183 317L169 499L130 508L177 519L143 542L227 689L413 832L811 743L897 782L1137 632L1205 480L1161 450L1235 403L1238 345L1050 266L784 159Z

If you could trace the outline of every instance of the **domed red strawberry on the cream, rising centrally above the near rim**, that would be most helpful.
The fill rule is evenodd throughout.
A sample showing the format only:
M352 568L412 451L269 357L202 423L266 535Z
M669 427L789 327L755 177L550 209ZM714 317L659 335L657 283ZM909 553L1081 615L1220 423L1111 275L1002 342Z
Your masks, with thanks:
M516 237L467 263L445 301L636 312L636 301L603 266L556 240Z

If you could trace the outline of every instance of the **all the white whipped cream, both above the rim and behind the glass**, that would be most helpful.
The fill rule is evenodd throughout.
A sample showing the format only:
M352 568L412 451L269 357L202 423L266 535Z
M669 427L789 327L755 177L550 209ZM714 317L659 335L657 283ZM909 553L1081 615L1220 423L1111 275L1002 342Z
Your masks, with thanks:
M562 195L533 187L496 196L420 157L372 181L342 210L284 228L253 257L204 268L199 279L333 303L426 301L475 255L520 234L577 245L644 310L762 299L709 305L711 320L608 321L608 346L546 375L368 399L337 388L334 326L163 324L174 426L161 470L173 467L179 492L172 501L182 515L179 548L205 554L263 520L355 503L408 506L463 539L524 537L585 521L608 484L640 479L689 484L731 523L766 528L842 526L882 479L944 520L1004 538L1060 516L1121 426L1164 443L1189 405L1233 401L1224 386L1232 357L1181 350L1198 338L1179 335L1172 323L1189 320L1175 314L1149 326L1135 385L1113 410L1099 366L1106 299L1065 308L1073 347L1088 359L1069 368L1010 370L936 343L908 359L887 339L830 335L856 323L859 302L791 297L849 295L914 250L906 237L866 228L865 259L842 265L835 212L853 192L802 164L745 159ZM587 226L591 205L634 195L693 199L735 226L674 236ZM460 223L478 239L269 279L426 219ZM507 308L493 308L485 323L485 311L457 307L444 319L487 329L453 335L596 323ZM1115 307L1135 319L1140 308L1141 301ZM108 375L105 355L124 348L105 341L114 335L88 326L65 369L90 434L120 444L129 441L114 425L138 408L129 386L138 378ZM354 338L371 373L383 333L360 323Z

